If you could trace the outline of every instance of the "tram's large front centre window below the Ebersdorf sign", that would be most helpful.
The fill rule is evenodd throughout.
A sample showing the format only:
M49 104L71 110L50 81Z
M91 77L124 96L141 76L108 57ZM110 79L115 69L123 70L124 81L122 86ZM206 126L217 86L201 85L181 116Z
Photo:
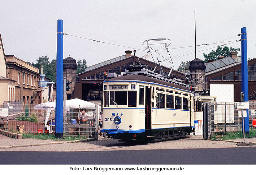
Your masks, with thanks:
M127 91L110 91L110 105L127 105Z

